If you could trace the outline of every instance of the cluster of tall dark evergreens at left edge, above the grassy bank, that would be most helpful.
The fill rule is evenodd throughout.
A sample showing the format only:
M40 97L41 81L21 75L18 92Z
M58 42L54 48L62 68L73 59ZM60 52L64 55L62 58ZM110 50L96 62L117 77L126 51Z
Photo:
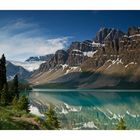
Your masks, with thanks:
M0 105L12 105L16 109L29 112L28 98L20 95L18 75L14 76L12 82L7 82L6 58L4 54L0 59Z

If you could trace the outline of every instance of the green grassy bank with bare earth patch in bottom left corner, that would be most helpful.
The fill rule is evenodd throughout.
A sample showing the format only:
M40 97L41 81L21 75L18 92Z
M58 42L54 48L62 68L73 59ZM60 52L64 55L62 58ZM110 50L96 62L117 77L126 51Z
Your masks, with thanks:
M47 125L38 117L19 111L12 106L0 106L0 129L1 130L44 130Z

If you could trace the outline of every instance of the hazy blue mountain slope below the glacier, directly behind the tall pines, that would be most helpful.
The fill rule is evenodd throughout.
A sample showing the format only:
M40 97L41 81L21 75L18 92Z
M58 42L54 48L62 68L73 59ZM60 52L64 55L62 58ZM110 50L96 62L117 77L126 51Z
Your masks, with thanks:
M7 73L6 74L7 74L8 81L12 80L15 74L19 75L20 80L26 80L32 74L32 72L29 72L29 71L25 70L21 66L16 66L9 61L6 62L6 68L7 68Z

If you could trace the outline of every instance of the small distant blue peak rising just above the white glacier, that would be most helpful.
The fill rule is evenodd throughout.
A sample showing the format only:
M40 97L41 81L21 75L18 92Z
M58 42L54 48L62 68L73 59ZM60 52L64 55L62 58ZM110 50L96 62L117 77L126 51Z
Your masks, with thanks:
M33 61L47 61L51 59L54 56L54 54L48 54L44 56L31 56L25 62L33 62Z

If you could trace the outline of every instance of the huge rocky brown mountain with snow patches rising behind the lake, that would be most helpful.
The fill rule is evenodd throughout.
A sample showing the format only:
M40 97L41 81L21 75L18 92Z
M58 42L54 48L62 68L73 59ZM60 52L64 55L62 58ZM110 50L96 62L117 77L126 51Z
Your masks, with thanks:
M51 88L139 88L140 28L101 28L93 40L72 42L33 73L29 82Z

